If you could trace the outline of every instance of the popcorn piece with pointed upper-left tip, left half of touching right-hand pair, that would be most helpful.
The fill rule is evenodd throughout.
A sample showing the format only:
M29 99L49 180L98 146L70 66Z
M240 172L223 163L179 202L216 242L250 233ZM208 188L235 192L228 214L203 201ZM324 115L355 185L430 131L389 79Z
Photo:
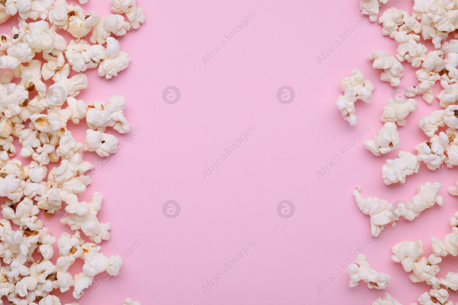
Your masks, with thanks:
M360 192L361 188L357 186L353 191L353 196L358 204L358 208L360 208L364 214L371 216L372 236L378 236L387 224L391 223L391 226L394 228L398 216L393 214L388 201L377 197L363 198Z

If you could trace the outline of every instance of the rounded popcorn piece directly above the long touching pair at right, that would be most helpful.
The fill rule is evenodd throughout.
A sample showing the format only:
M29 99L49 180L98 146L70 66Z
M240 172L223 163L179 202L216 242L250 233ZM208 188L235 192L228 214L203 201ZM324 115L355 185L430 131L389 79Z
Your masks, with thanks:
M417 173L420 168L420 161L408 151L400 150L398 157L388 159L387 164L382 166L383 182L386 185L397 182L404 183L406 176Z

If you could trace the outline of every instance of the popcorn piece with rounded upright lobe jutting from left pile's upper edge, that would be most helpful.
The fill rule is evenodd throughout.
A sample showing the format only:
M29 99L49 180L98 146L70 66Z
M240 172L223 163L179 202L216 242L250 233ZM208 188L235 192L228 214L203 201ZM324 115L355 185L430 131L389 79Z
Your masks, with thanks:
M114 37L108 37L106 42L105 58L98 65L98 75L105 76L108 80L127 68L131 62L131 58L129 54L121 51L119 41Z

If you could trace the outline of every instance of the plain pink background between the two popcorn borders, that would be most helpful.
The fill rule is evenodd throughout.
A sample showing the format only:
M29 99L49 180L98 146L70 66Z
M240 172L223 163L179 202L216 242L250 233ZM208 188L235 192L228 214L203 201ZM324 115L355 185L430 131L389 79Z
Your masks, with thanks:
M388 187L381 168L397 150L375 157L360 143L326 176L317 175L327 161L342 156L339 149L365 126L371 130L364 139L372 139L382 127L378 117L393 88L379 79L381 71L371 67L367 55L379 49L394 55L397 43L382 36L381 25L367 20L320 65L317 56L337 39L342 42L339 34L362 16L358 1L264 1L137 0L146 22L120 38L131 65L109 81L95 70L87 72L90 86L78 98L90 102L125 96L125 115L141 132L93 177L80 198L89 199L94 191L105 196L99 219L113 227L109 241L101 244L106 255L122 255L136 241L142 245L117 277L92 294L88 289L80 304L121 304L125 297L142 305L371 304L388 292L406 305L429 291L424 283L411 283L402 266L391 261L391 247L421 239L429 255L429 236L443 239L451 231L448 221L457 208L447 187L455 184L456 170L435 180L422 163L405 184ZM411 12L413 1L396 5ZM109 14L108 0L89 0L83 6ZM383 5L381 11L389 7ZM224 35L250 12L256 17L249 27L204 64L202 56L221 40L227 42ZM403 65L401 85L415 85L415 69ZM349 126L335 101L340 80L354 67L376 89L371 103L356 103L359 122ZM179 88L178 103L163 101L167 86ZM281 86L294 88L294 102L278 102ZM436 95L440 88L435 89ZM410 152L426 140L418 120L440 109L437 100L432 105L420 96L416 100L417 112L398 128L400 149ZM202 171L251 126L256 131L248 143L205 179ZM76 132L81 141L84 129ZM87 155L93 163L104 159ZM393 203L409 200L425 181L443 184L444 207L434 206L414 221L401 220L395 229L387 227L372 237L369 217L354 202L354 187L360 185L365 197ZM168 200L180 204L178 218L162 213ZM295 205L290 219L277 214L282 200ZM59 227L58 220L50 221ZM250 241L256 246L249 256L232 270L226 268ZM336 269L343 271L339 263L365 241L370 242L365 254L371 266L393 278L388 288L349 288L345 271L320 293L317 285ZM454 259L444 259L439 276L458 271ZM228 273L205 293L202 285L222 268ZM458 296L450 299L457 302Z

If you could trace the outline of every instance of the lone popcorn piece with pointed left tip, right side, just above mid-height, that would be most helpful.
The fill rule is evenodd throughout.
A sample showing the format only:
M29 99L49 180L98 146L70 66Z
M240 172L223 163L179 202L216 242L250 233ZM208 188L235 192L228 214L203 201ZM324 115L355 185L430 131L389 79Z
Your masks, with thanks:
M364 141L366 149L370 150L374 155L386 154L397 149L400 143L397 128L398 126L392 122L383 124L383 127L380 128L373 140Z

